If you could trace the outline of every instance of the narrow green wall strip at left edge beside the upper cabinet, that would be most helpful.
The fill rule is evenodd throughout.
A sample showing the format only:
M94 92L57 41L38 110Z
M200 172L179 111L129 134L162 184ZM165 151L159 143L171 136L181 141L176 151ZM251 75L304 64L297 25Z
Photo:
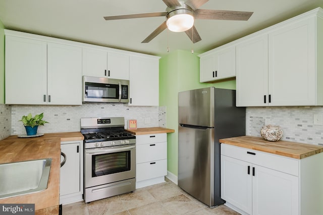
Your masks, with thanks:
M5 103L5 26L0 20L0 104Z

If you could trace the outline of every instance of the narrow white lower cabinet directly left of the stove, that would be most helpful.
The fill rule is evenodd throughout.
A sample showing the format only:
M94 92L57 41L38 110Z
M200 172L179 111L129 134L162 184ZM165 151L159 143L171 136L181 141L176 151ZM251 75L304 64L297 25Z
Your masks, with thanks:
M61 142L66 163L61 167L60 204L83 200L83 141ZM61 156L61 163L64 157Z

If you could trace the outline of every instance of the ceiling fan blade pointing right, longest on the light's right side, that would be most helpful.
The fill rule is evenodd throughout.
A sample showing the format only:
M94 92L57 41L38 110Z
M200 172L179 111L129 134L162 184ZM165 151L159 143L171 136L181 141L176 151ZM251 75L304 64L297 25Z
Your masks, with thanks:
M253 12L197 9L195 19L248 20Z

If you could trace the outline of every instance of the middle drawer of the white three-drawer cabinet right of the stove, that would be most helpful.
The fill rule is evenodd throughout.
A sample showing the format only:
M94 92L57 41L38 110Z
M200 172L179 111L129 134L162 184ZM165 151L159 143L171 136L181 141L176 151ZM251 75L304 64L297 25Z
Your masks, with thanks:
M136 163L167 159L167 142L148 143L136 146Z

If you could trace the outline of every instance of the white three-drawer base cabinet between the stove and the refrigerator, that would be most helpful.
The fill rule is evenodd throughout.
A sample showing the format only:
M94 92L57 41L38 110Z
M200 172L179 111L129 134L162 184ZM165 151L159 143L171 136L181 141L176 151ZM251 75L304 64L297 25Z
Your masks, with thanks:
M165 182L167 134L136 135L136 188Z

